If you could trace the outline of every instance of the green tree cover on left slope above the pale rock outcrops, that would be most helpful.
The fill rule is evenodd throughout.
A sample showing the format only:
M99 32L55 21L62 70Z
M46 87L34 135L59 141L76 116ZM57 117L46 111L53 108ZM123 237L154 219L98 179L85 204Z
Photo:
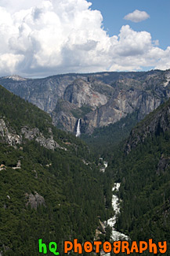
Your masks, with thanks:
M0 86L0 94L0 117L5 117L16 132L20 132L22 126L29 126L30 128L38 127L44 135L48 133L51 124L49 114L9 93L2 86Z

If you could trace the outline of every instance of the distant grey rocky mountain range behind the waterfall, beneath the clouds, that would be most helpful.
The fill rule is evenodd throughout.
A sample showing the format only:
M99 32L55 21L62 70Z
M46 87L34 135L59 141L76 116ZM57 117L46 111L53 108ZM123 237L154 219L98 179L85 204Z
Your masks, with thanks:
M92 134L138 111L137 121L170 96L170 70L67 74L44 79L6 76L3 87L32 102L52 116L65 131Z

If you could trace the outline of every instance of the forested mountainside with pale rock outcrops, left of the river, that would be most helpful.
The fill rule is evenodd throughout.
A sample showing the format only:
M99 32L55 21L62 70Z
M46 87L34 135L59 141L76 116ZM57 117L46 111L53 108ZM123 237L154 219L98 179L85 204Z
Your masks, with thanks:
M112 212L110 178L95 162L48 113L0 86L0 254L38 255L42 239L62 255L64 240L92 241Z

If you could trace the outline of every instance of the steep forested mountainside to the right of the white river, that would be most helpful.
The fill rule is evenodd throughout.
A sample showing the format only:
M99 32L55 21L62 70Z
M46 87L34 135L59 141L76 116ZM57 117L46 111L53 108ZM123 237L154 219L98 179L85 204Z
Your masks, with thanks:
M113 152L110 175L121 182L117 228L132 241L170 247L170 99L132 128ZM148 251L146 251L148 255ZM161 255L158 253L158 255ZM169 250L166 255L169 254Z

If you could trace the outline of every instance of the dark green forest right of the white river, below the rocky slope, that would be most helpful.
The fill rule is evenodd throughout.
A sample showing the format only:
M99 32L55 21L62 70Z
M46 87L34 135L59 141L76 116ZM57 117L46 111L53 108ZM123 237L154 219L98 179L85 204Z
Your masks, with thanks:
M170 132L148 137L127 156L114 155L111 171L121 180L117 228L132 240L167 241L170 232ZM168 255L168 254L167 254Z

